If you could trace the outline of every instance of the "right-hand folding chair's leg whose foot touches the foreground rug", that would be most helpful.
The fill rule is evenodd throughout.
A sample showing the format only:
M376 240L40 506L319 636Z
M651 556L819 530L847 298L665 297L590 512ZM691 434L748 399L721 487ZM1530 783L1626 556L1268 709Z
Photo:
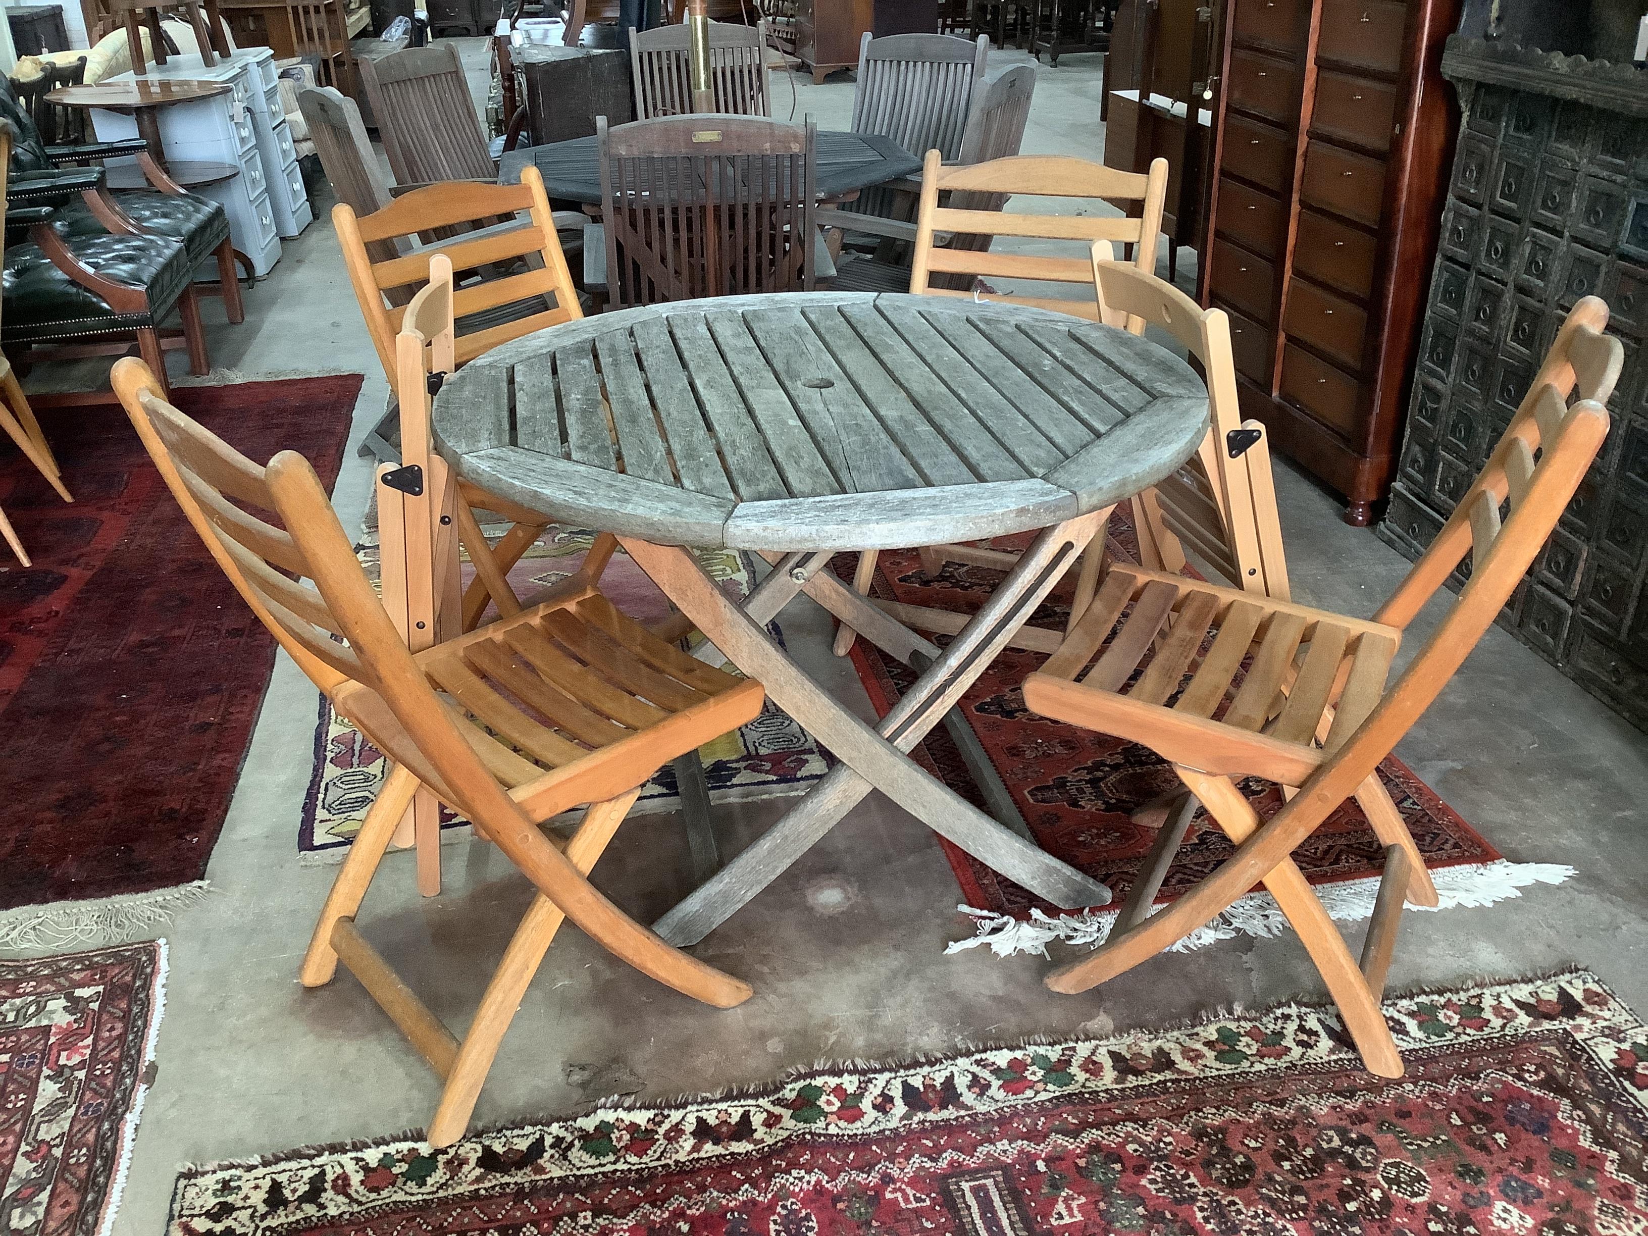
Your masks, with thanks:
M1241 845L1259 827L1259 812L1252 809L1252 804L1243 798L1228 776L1210 776L1178 765L1175 770L1233 842ZM1381 1078L1402 1076L1402 1056L1396 1050L1391 1027L1379 1010L1379 997L1368 987L1345 938L1333 925L1310 882L1305 880L1304 872L1299 870L1292 857L1285 857L1262 878L1287 921L1294 925L1299 943L1305 946L1315 962L1333 1004L1338 1005L1340 1017L1345 1018L1351 1042L1361 1053L1363 1065Z

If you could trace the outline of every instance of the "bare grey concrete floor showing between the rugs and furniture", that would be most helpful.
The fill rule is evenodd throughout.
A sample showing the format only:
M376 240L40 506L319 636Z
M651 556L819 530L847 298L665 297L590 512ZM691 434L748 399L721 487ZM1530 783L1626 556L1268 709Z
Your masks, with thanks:
M1023 63L992 54L992 68ZM1099 157L1096 56L1038 71L1027 152ZM788 86L776 84L776 112ZM796 115L844 127L850 76L798 84ZM247 321L208 307L224 372L208 381L358 371L356 440L384 405L372 354L318 186L321 221L285 246L250 292ZM178 361L173 363L175 366ZM369 470L344 456L336 501L354 526ZM1406 564L1340 503L1279 465L1282 527L1300 600L1371 613ZM1427 615L1434 616L1434 615ZM786 618L796 656L870 715L855 676L827 651L824 615ZM1416 648L1417 639L1409 643ZM183 1163L377 1139L420 1127L435 1078L346 974L321 990L295 981L336 868L298 867L295 832L310 776L315 689L282 656L239 791L213 855L214 893L168 929L171 977L158 1073L143 1111L117 1233L162 1229ZM1511 636L1493 631L1399 753L1508 859L1566 862L1577 875L1482 910L1412 913L1393 989L1523 976L1582 962L1648 1012L1648 742ZM723 809L756 836L783 803ZM679 821L625 826L597 883L643 921L687 892ZM526 908L527 883L491 847L447 849L448 892L422 900L409 855L392 859L363 911L368 936L455 1027ZM971 934L931 834L885 799L854 811L697 953L756 995L715 1012L615 962L569 928L526 997L476 1109L480 1124L570 1112L610 1094L667 1098L758 1083L821 1058L893 1060L1025 1035L1106 1033L1320 995L1294 938L1231 939L1167 956L1079 997L1042 987L1048 962L954 957ZM1350 928L1353 948L1361 926Z

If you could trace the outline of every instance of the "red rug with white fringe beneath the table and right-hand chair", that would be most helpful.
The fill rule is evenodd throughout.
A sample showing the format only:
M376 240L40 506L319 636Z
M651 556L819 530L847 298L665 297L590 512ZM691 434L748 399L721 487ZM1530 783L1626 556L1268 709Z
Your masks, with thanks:
M1111 550L1135 560L1127 504L1117 508L1109 527ZM1000 547L1022 547L1028 537L1004 537ZM854 557L834 564L850 578ZM946 564L928 578L913 550L882 554L872 592L906 605L928 605L956 613L972 613L995 590L1002 572L986 567ZM1063 630L1070 615L1071 582L1032 616L1032 625ZM880 715L915 681L911 671L880 653L865 639L852 651L854 666ZM961 700L962 715L984 743L990 763L1018 804L1018 811L1042 849L1093 875L1116 893L1116 905L1127 897L1155 832L1139 827L1129 812L1178 786L1173 770L1137 743L1122 742L1074 725L1038 717L1023 704L1020 684L1043 661L1038 653L1009 649L984 672ZM939 775L953 789L984 808L977 786L943 727L928 735L915 758ZM1391 798L1401 809L1426 865L1435 872L1442 906L1488 905L1516 897L1534 882L1557 883L1572 873L1554 864L1510 864L1458 812L1447 806L1401 760L1379 768ZM1246 786L1259 812L1269 816L1280 806L1280 793L1269 783ZM1042 951L1050 939L1098 943L1109 929L1111 913L1061 915L1012 880L997 875L964 850L944 842L967 913L979 936L961 946L990 944L999 953ZM1198 814L1183 849L1162 885L1160 901L1170 901L1211 873L1234 847L1229 839ZM1366 918L1373 911L1384 850L1361 809L1350 803L1295 850L1300 868L1322 890L1335 918ZM1284 929L1276 903L1256 893L1233 906L1213 928L1192 943L1229 936L1276 934Z

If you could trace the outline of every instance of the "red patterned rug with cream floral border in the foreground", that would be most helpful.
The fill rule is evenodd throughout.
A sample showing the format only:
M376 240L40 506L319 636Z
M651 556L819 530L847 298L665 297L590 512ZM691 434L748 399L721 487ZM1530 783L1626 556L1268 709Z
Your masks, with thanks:
M185 1172L168 1236L1582 1236L1648 1229L1648 1028L1594 976L809 1071L445 1150Z

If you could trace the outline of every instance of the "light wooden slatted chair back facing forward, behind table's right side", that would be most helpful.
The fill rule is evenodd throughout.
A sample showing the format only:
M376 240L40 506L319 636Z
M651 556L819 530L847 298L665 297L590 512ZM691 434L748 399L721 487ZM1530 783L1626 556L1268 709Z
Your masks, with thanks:
M1002 206L1010 196L1017 201L1040 198L1066 209L1070 199L1137 201L1139 214L1005 213ZM910 290L971 295L981 279L1005 279L1014 280L1005 290L992 283L984 295L1009 305L1051 307L1096 321L1101 310L1093 295L1094 244L1106 246L1106 259L1112 257L1112 246L1131 244L1134 264L1140 270L1155 270L1165 198L1167 160L1160 158L1150 165L1149 175L1140 176L1066 155L1014 155L946 168L938 152L929 150L921 171ZM994 246L1000 237L1030 241L1035 252L1004 252ZM1065 246L1070 255L1060 255L1060 246L1046 244L1050 241L1070 242ZM1032 287L1022 287L1018 280ZM1046 295L1051 288L1033 287L1046 283L1074 285L1084 295L1051 298ZM1126 313L1116 307L1103 320L1112 326L1124 325ZM1142 330L1139 320L1129 325Z

